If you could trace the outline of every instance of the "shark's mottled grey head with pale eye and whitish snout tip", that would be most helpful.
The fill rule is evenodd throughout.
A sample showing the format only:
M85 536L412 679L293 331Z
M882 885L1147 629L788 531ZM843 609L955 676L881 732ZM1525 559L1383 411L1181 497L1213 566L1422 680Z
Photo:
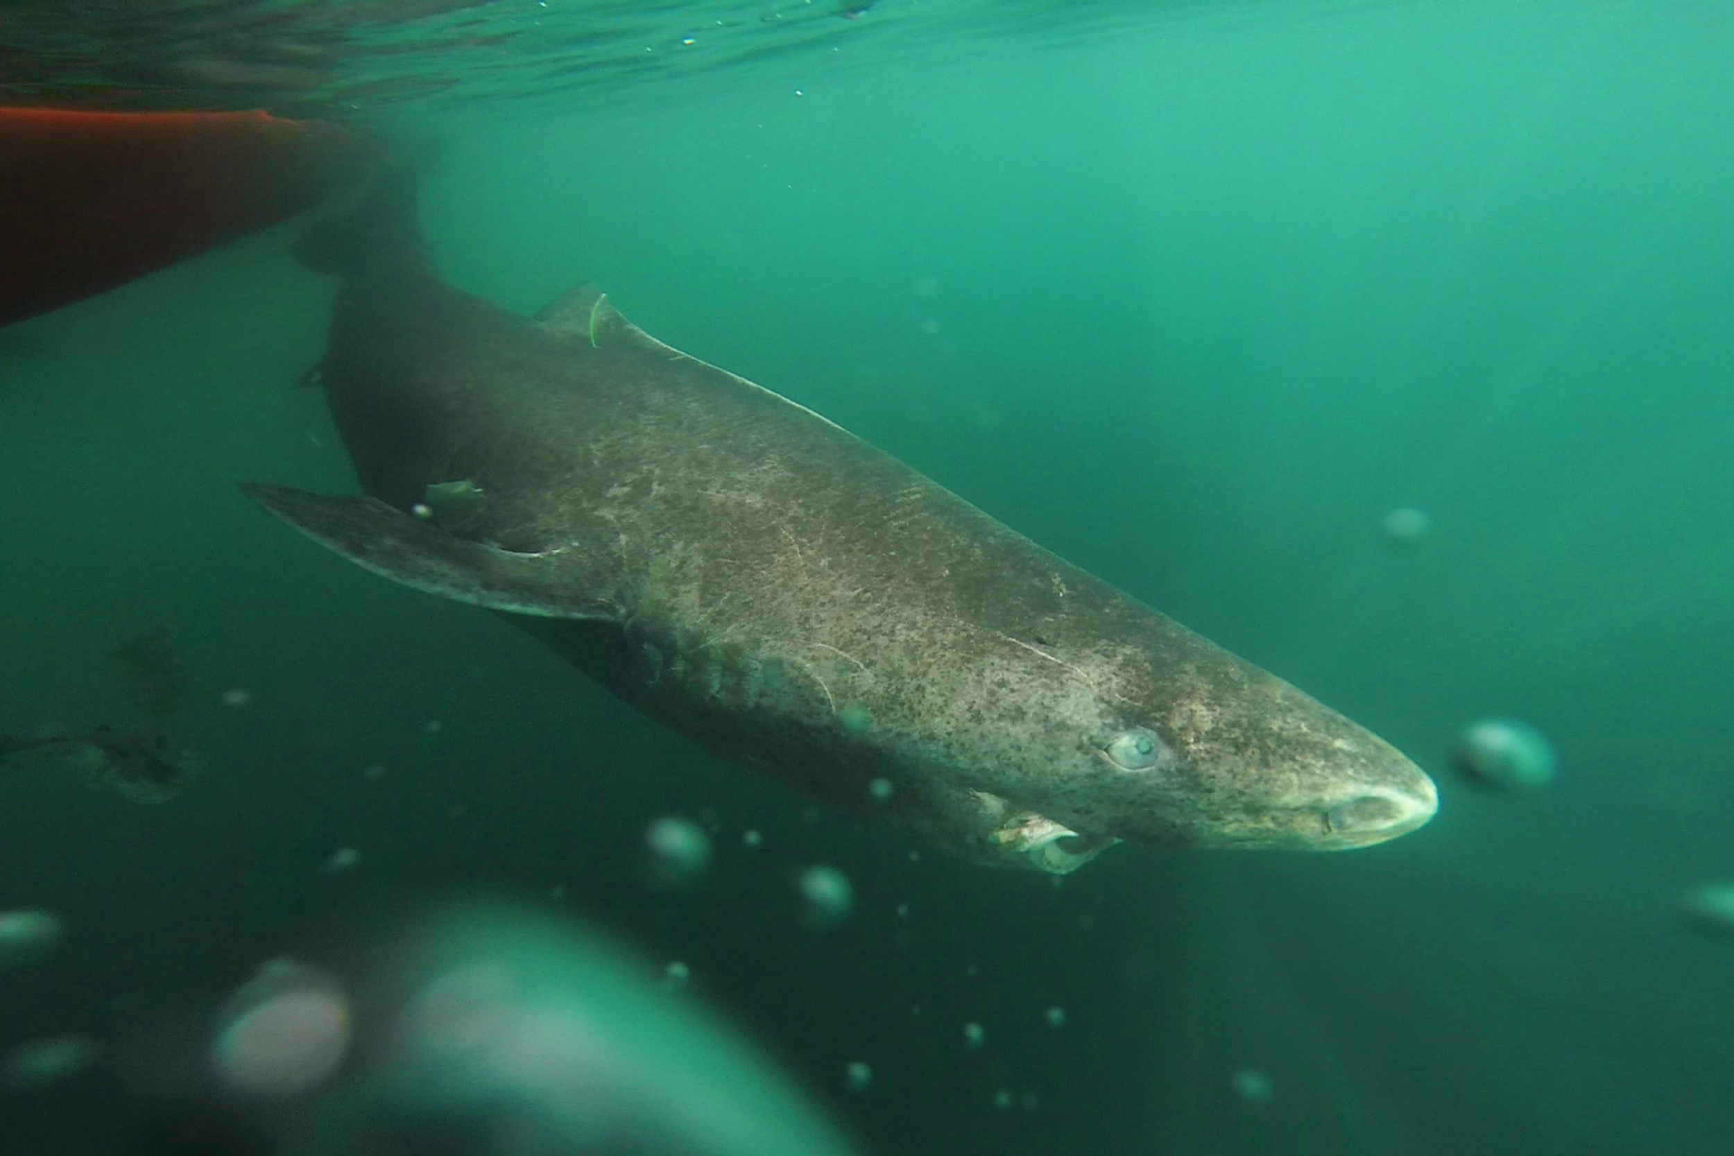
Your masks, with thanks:
M1065 873L1120 841L1344 851L1432 818L1432 780L1391 744L1136 610L1138 629L1122 619L1113 645L1082 633L1068 645L1049 629L1042 643L999 634L981 652L981 683L995 690L968 714L973 744L942 744L978 754L952 768L945 808L922 802L926 839Z

